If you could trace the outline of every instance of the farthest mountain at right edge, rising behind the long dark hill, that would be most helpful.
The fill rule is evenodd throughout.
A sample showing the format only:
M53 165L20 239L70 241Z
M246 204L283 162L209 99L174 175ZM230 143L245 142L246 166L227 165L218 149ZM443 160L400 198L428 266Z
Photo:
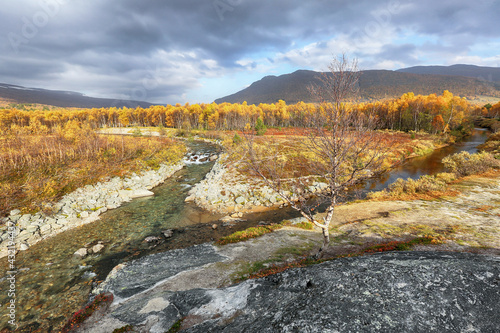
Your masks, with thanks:
M413 74L465 76L479 79L481 81L500 83L499 67L482 67L475 65L415 66L398 69L397 71Z

